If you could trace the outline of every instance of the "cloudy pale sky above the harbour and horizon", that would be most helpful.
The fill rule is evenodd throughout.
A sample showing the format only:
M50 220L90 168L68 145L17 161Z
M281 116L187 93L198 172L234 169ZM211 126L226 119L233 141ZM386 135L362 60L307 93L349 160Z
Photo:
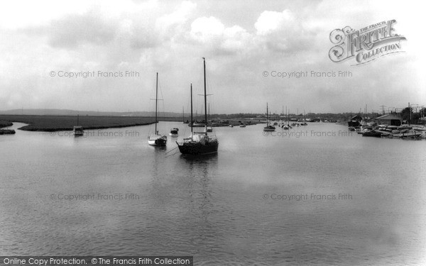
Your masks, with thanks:
M202 57L211 113L426 106L423 13L421 1L3 1L0 111L153 111L158 72L162 111L186 113L192 83L200 113ZM330 60L334 29L392 19L403 52ZM351 77L311 76L339 71ZM308 75L278 77L291 72Z

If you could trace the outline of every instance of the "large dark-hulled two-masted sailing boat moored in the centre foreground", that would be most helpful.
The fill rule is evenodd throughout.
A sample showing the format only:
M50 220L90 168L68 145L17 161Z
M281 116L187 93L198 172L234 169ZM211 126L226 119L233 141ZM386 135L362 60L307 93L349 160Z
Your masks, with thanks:
M193 132L192 127L192 84L191 84L191 138L178 143L180 153L188 155L206 155L209 153L217 153L219 141L214 135L207 135L207 92L206 92L206 60L204 57L204 132Z

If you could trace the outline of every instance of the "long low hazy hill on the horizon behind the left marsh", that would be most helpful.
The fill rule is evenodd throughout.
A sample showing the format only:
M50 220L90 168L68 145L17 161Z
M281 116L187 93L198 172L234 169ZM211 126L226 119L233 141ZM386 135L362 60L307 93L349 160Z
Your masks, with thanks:
M27 116L155 116L155 112L102 112L102 111L75 111L68 109L13 109L0 111L5 115L27 115ZM160 117L182 117L182 113L158 112ZM189 114L185 113L185 116Z

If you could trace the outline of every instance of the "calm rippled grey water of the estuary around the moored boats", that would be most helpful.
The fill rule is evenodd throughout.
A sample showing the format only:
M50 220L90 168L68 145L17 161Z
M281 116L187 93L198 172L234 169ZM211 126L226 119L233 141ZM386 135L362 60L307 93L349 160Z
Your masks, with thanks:
M189 134L160 123L173 127L179 140ZM425 140L328 123L262 128L214 128L219 153L197 160L170 137L165 149L148 146L150 126L0 136L0 255L425 265Z

